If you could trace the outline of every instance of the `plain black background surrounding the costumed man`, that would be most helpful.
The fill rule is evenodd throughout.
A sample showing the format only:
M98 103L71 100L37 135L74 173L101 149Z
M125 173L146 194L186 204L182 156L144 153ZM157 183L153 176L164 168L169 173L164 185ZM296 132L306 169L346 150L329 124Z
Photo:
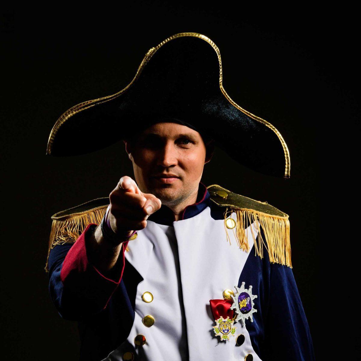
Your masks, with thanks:
M335 301L325 284L353 232L340 231L349 218L339 213L348 191L339 179L353 174L352 153L344 151L357 108L349 86L357 62L352 11L228 3L96 6L1 14L3 351L13 359L77 360L77 324L63 320L48 295L50 217L108 196L123 175L134 177L123 143L84 156L46 156L55 121L75 104L124 88L151 47L178 32L199 32L221 52L230 97L273 124L291 157L291 178L282 179L244 168L216 149L202 181L290 215L293 274L316 357L322 357L321 339L330 335L323 305Z

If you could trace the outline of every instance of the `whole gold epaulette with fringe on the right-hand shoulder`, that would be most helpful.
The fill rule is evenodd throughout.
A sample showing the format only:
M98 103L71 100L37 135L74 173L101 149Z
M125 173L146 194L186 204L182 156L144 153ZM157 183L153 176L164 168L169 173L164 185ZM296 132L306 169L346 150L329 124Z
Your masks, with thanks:
M264 238L257 224L258 236L255 238L252 230L252 237L255 244L255 252L263 257L263 245L269 254L270 262L287 265L292 268L291 244L290 244L290 221L288 214L283 213L267 202L257 201L237 193L233 193L218 184L207 187L210 199L219 206L226 207L224 212L225 230L227 240L230 242L227 229L236 228L236 239L240 249L249 251L248 240L245 235L245 224L253 223L256 220L264 231ZM228 216L236 213L237 222L227 221ZM248 221L248 222L247 222Z

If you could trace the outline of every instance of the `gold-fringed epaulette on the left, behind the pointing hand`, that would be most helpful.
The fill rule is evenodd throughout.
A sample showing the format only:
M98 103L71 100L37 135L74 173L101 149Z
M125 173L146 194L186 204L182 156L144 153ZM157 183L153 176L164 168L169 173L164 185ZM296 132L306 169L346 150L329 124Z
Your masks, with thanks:
M100 224L109 205L109 197L96 198L73 208L55 213L49 237L48 256L45 271L48 269L50 250L58 244L74 243L89 223Z

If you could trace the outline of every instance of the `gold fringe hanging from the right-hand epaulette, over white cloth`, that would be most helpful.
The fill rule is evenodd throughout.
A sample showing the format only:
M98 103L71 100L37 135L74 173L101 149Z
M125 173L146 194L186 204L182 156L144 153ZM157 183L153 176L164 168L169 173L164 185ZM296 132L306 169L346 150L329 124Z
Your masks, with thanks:
M264 231L265 239L262 238L260 225L256 222L258 236L255 238L253 227L251 233L255 244L255 255L263 258L263 245L265 246L270 262L287 265L292 268L291 263L291 243L290 243L290 221L287 217L271 216L267 213L257 212L251 209L226 208L224 213L224 225L227 235L227 241L231 243L228 230L226 227L226 219L232 213L236 213L236 240L238 246L243 251L249 251L248 239L245 234L246 219L248 224L258 221ZM247 217L247 218L246 218ZM234 232L234 229L232 229Z

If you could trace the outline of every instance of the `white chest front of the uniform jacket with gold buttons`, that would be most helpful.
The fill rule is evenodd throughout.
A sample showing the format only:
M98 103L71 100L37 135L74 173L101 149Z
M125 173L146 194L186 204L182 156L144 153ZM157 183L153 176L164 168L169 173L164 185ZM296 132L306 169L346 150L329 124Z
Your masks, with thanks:
M231 218L236 220L235 214ZM247 326L241 322L235 323L236 332L230 340L221 341L213 332L216 323L209 300L222 299L224 290L239 285L245 262L254 252L251 232L257 235L253 223L246 230L250 249L244 252L233 232L229 232L227 241L224 227L224 221L213 219L210 208L206 208L173 226L149 221L138 232L138 237L128 244L124 270L134 318L120 317L129 334L108 360L122 360L126 352L145 360L187 360L186 351L189 360L199 360L199 355L205 360L244 360L249 353L253 360L260 360L252 348ZM131 273L138 273L138 280ZM149 293L150 302L149 297L144 297ZM128 309L127 314L131 313ZM236 345L239 334L245 337L240 346ZM142 346L135 344L138 335L145 338Z

